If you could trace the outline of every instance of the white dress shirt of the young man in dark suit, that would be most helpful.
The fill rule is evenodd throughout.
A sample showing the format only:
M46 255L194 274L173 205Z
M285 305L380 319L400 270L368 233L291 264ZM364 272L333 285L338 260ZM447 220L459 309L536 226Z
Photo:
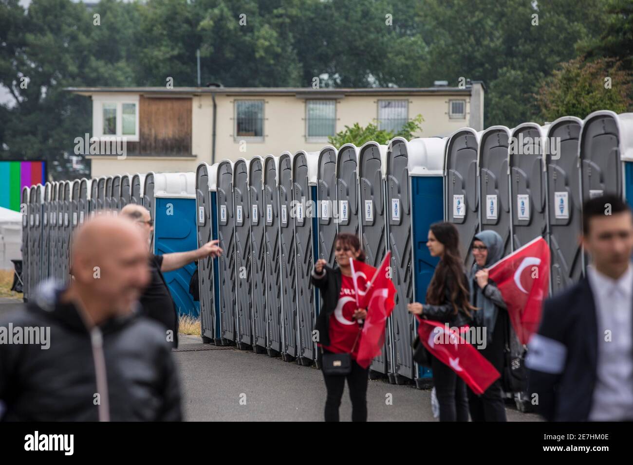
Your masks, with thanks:
M598 323L598 366L589 419L633 419L633 266L617 280L587 267Z

